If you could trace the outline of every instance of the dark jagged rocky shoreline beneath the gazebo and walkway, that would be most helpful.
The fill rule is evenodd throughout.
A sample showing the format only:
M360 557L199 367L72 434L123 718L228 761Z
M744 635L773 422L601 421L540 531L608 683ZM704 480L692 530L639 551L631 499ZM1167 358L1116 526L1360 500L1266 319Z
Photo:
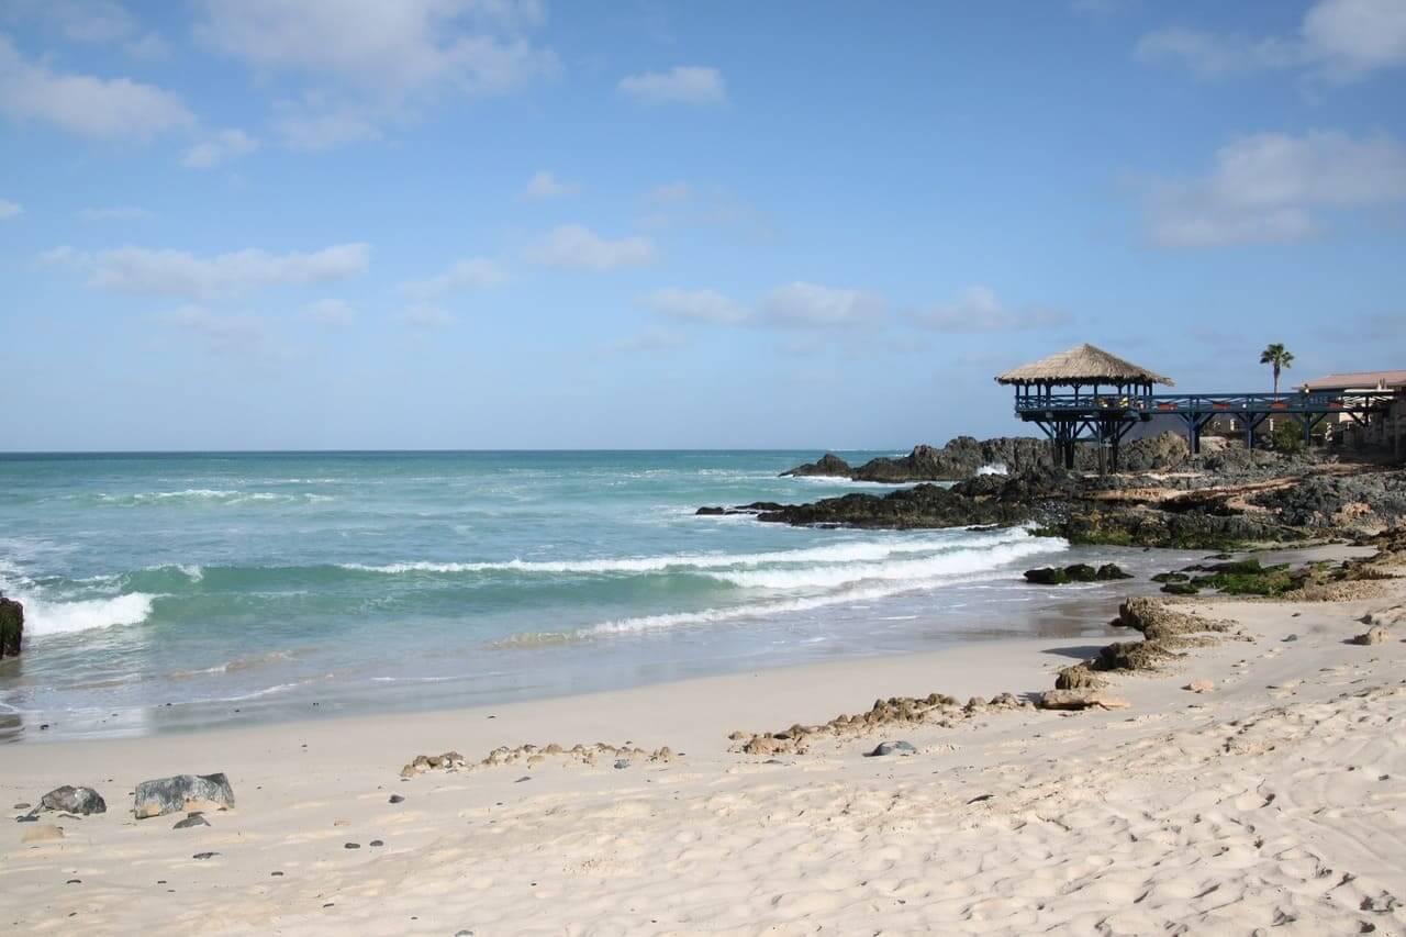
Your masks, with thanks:
M1219 442L1219 440L1216 440ZM1085 461L1091 450L1081 456ZM1136 440L1125 471L1066 471L1036 439L959 438L875 459L849 471L862 481L920 481L884 495L846 494L796 505L702 508L796 526L922 529L1032 525L1076 544L1243 550L1371 535L1406 522L1406 468L1340 457L1288 456L1218 446L1192 456L1173 433ZM976 474L1004 459L1010 474ZM837 474L827 454L786 476ZM952 485L931 484L950 481Z

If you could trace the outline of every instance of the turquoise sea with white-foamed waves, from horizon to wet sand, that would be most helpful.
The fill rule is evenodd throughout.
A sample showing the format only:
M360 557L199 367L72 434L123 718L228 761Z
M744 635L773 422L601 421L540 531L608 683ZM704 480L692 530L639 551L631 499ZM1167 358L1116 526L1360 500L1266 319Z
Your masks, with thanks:
M1038 627L1049 594L1019 571L1067 559L1056 540L693 514L887 490L776 477L815 456L0 456L0 589L28 613L0 736L472 705Z

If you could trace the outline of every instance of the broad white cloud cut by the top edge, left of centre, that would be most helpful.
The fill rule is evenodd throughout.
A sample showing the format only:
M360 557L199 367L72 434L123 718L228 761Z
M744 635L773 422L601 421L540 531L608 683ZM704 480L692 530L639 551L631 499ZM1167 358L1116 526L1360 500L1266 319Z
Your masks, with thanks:
M520 32L540 3L201 0L197 38L262 72L330 79L377 98L437 89L498 94L557 69Z

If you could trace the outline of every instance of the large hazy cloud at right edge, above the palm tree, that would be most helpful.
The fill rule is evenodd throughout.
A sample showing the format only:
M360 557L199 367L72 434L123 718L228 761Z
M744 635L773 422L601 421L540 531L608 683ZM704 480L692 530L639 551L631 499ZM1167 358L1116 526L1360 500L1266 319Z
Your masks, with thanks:
M1289 242L1317 234L1322 211L1402 200L1406 146L1391 136L1254 134L1220 148L1204 177L1154 183L1146 221L1170 248Z

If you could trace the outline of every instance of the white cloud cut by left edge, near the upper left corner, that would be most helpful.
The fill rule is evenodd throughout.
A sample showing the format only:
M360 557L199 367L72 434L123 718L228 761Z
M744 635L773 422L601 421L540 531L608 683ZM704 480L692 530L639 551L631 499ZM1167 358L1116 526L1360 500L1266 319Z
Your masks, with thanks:
M82 136L146 139L194 122L181 100L131 79L60 75L27 60L0 35L0 113Z

